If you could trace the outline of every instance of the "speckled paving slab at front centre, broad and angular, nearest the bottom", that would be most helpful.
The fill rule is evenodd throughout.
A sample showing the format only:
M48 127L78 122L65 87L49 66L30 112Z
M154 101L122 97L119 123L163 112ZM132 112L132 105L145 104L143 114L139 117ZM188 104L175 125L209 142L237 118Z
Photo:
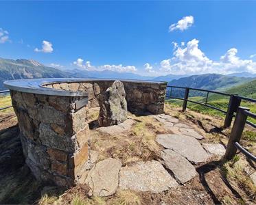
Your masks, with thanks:
M159 193L176 186L178 186L176 180L168 174L158 161L139 162L120 169L120 189Z

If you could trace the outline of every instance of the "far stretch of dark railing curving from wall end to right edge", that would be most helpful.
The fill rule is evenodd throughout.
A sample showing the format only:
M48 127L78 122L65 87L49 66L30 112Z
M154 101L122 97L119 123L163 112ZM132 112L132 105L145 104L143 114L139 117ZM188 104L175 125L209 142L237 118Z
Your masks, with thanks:
M178 100L183 100L183 111L185 111L187 109L187 102L192 102L192 103L202 105L202 106L205 106L205 107L209 107L211 109L215 109L217 111L220 111L220 112L224 113L226 115L225 116L225 121L224 121L224 127L231 126L231 122L233 120L233 117L235 117L235 113L237 112L238 107L240 107L242 100L246 100L248 102L256 102L256 100L253 99L253 98L246 98L246 97L243 97L243 96L238 96L238 95L234 95L234 94L226 94L224 92L217 92L217 91L213 91L213 90L204 90L204 89L191 88L191 87L179 87L179 86L167 85L167 88L168 87L170 88L170 90L167 90L166 98L167 99L174 98L174 99L178 99ZM179 98L179 97L172 96L172 92L173 92L174 88L185 90L184 97ZM206 92L207 96L205 98L205 103L196 102L194 100L189 100L189 91L191 91L191 90L192 91L193 90L194 91L199 91L199 92ZM212 105L209 105L208 104L209 94L219 94L219 95L222 95L222 96L228 96L229 97L229 104L228 104L227 110L225 111L225 110L220 109L218 107L214 107ZM250 121L246 121L246 123L249 124L249 125L253 125L253 123L250 122Z

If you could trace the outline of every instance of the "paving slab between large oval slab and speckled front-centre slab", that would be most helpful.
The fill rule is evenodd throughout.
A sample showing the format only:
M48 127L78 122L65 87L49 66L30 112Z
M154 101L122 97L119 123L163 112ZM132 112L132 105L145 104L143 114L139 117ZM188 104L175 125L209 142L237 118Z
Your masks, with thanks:
M184 184L196 176L196 169L185 157L172 150L161 152L164 165L172 171L174 177Z

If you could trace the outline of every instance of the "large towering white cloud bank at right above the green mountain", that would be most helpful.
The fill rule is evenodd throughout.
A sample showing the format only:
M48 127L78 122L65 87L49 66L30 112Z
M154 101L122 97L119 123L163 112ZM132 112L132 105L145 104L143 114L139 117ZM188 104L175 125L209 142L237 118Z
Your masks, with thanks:
M190 40L187 44L181 43L181 46L174 44L173 57L161 61L160 70L175 74L256 72L256 62L251 59L240 59L235 48L226 51L219 61L213 61L199 49L198 44L199 41L196 39Z

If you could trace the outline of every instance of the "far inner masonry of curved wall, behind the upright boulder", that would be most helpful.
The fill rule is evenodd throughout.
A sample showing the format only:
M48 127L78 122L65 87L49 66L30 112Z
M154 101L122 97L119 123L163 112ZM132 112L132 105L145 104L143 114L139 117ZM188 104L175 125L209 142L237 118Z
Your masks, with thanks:
M100 94L106 92L108 87L113 84L114 80L108 81L88 81L88 82L71 82L71 83L53 83L45 87L88 92L89 107L99 107ZM150 113L161 114L165 102L165 83L143 82L143 81L121 81L124 83L126 91L126 101L128 111L131 113L141 114L146 111Z

